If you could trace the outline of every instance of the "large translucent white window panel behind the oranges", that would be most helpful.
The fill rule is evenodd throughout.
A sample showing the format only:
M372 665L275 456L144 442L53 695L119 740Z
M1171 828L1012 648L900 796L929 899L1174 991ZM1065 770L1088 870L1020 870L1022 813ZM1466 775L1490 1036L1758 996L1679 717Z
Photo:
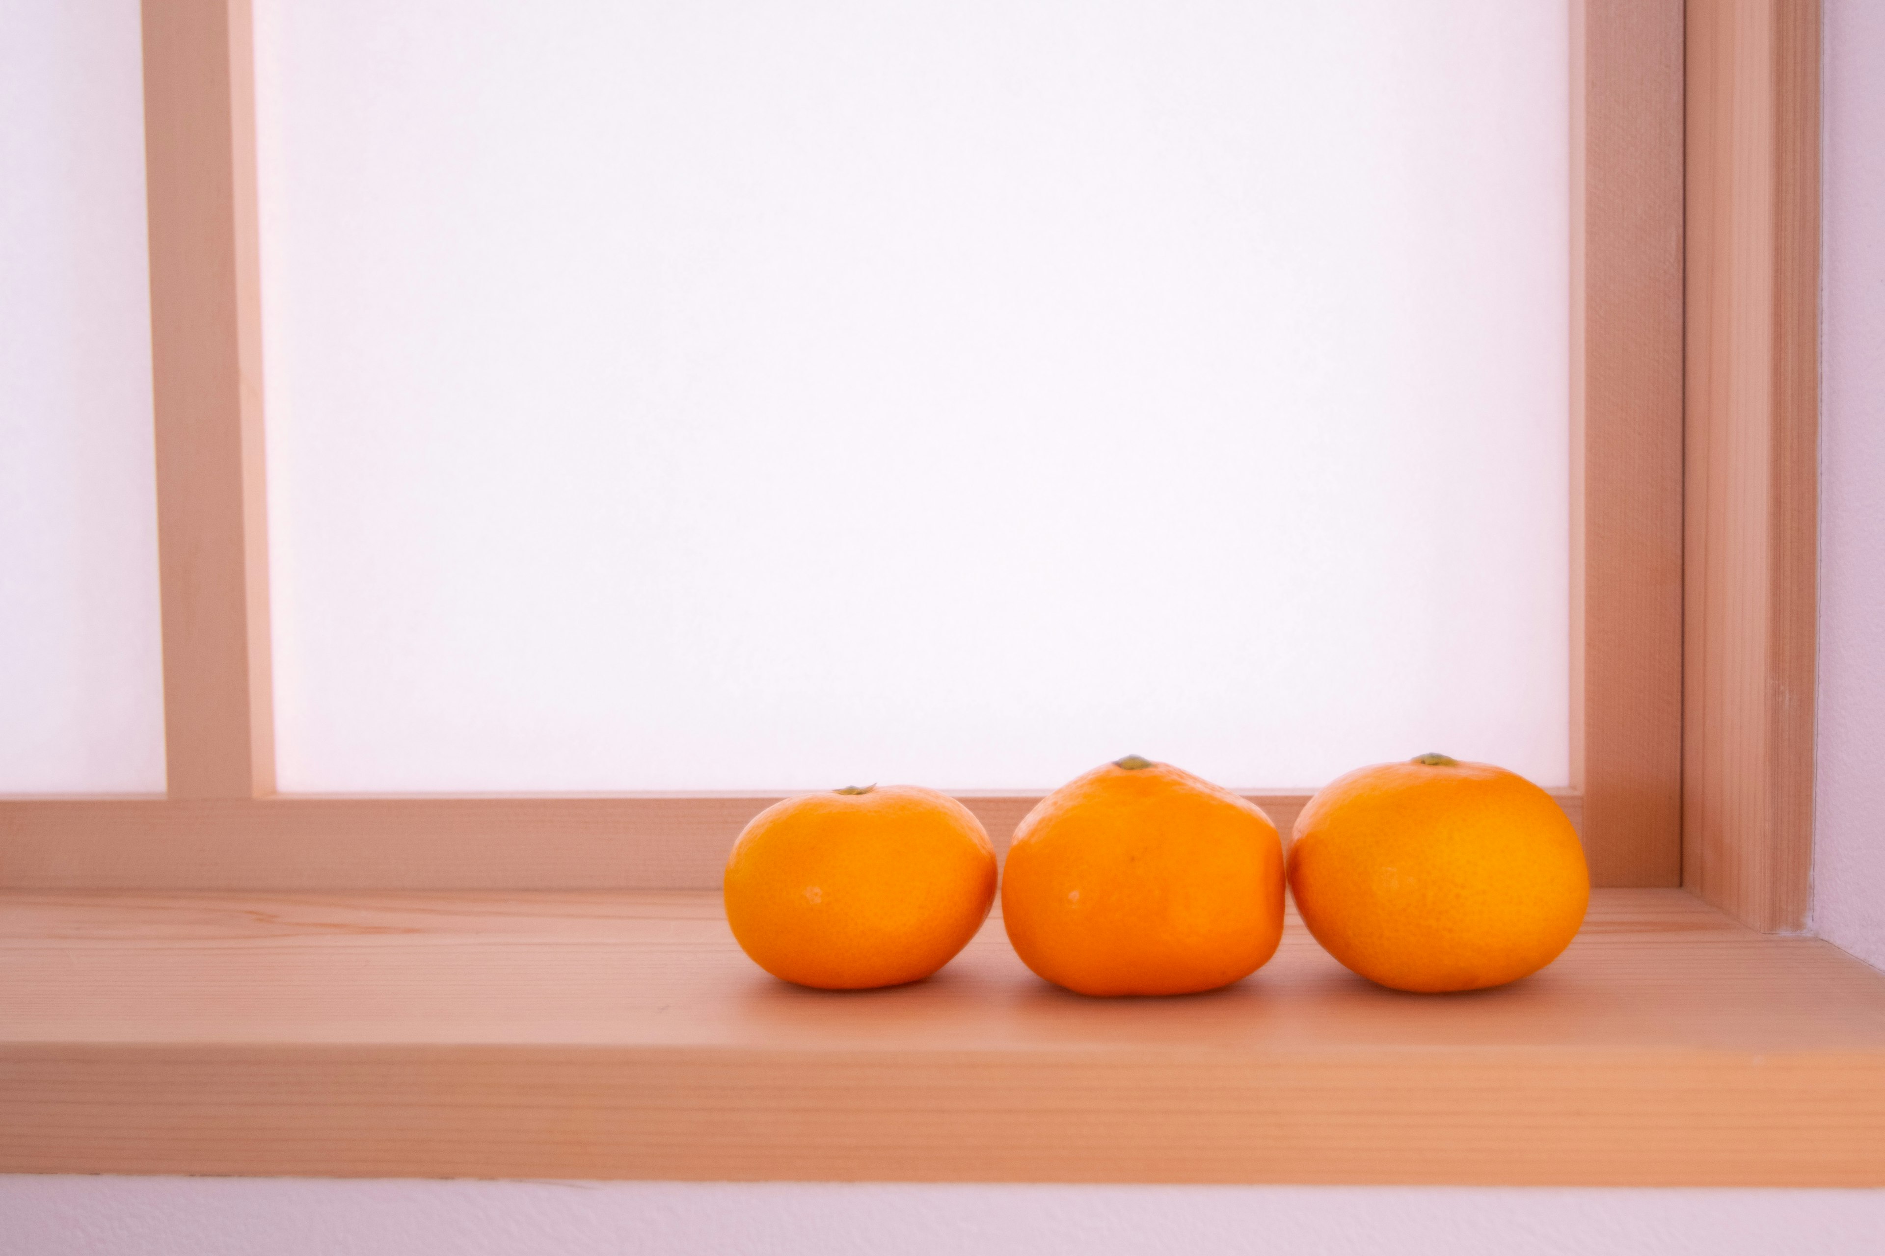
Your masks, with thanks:
M1563 783L1566 26L262 0L283 787Z

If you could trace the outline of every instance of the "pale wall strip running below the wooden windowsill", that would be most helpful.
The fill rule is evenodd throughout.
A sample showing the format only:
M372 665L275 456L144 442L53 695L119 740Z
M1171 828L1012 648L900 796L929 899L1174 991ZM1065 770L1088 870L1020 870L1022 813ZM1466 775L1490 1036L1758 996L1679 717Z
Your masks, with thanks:
M1876 1256L1862 1190L0 1179L0 1256Z

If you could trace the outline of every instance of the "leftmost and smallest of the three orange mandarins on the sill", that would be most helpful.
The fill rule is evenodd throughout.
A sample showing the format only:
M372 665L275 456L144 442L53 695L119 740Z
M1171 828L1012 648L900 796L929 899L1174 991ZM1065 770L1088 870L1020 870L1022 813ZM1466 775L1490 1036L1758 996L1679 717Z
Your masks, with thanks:
M733 842L726 921L765 972L822 990L922 981L995 902L995 847L948 795L916 785L775 802Z

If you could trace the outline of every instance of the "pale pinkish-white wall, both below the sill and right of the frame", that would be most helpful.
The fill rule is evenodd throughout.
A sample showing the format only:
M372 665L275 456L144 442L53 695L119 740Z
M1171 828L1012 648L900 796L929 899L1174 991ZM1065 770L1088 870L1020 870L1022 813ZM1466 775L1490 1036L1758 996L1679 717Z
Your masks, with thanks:
M1885 964L1885 6L1827 19L1815 919ZM1885 1192L0 1179L0 1256L1870 1256L1881 1233Z

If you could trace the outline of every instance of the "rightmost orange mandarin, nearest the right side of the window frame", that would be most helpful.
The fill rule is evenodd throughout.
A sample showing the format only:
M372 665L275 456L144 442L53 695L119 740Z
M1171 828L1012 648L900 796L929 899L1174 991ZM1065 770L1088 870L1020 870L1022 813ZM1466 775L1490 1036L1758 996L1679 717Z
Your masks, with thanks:
M1289 891L1316 942L1369 981L1478 990L1570 945L1591 874L1551 795L1487 763L1421 755L1308 800Z

